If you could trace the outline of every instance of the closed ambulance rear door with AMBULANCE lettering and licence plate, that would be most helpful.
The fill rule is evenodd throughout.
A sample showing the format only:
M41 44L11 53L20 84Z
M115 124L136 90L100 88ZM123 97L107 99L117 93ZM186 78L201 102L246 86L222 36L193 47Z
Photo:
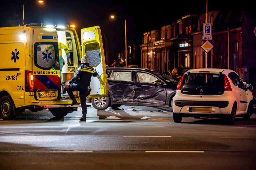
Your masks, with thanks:
M55 28L35 28L33 51L35 99L60 99L60 67L57 30Z

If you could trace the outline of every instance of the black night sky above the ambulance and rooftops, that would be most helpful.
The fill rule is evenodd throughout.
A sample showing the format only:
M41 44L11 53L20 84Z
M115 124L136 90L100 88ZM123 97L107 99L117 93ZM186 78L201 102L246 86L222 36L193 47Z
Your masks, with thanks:
M24 0L1 2L0 27L22 24ZM228 4L232 2L232 4ZM244 0L243 2L247 2ZM208 0L208 10L230 8L241 1ZM245 3L244 3L245 4ZM196 7L193 7L196 6ZM182 1L67 1L46 0L44 4L27 2L24 6L25 24L74 24L79 38L81 29L99 25L108 45L109 62L125 48L124 19L110 19L110 15L127 20L127 46L141 44L143 33L161 30L164 25L187 14L201 15L206 11L206 0ZM106 49L105 49L106 50ZM111 58L111 59L110 59ZM110 63L107 63L110 64Z

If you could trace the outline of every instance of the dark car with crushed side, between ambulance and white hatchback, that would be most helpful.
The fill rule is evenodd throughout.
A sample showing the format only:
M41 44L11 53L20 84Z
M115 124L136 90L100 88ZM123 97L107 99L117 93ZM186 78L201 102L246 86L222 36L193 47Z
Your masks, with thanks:
M93 98L94 108L121 105L171 107L177 81L152 69L107 68L108 97Z

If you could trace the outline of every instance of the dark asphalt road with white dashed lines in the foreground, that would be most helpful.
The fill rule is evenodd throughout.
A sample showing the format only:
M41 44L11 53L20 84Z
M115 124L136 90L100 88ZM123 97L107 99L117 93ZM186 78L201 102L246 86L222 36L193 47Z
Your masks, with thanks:
M49 111L0 119L0 169L255 169L256 114L235 125L177 124L171 108L138 106L80 117L79 108L60 120Z

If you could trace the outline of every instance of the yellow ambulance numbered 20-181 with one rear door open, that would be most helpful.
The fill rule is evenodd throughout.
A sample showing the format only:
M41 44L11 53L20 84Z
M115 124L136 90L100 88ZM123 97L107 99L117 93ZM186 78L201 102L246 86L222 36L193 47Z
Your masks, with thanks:
M53 116L64 117L77 110L79 105L71 106L64 86L76 74L84 54L98 73L91 78L88 98L107 97L100 27L82 29L81 39L80 45L70 25L40 23L0 28L0 117L11 120L25 109L48 109ZM60 48L60 43L68 52ZM79 92L74 94L80 103Z

